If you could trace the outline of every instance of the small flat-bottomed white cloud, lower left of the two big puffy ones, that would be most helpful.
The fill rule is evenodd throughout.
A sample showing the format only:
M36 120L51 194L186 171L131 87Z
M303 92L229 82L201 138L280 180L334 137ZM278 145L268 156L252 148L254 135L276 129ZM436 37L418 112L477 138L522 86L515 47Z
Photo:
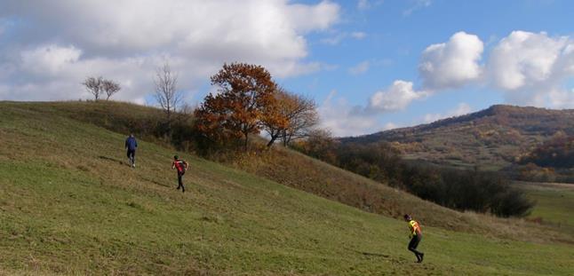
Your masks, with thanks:
M409 106L413 100L427 96L427 91L415 91L411 82L397 80L386 90L375 92L365 111L367 113L399 111Z

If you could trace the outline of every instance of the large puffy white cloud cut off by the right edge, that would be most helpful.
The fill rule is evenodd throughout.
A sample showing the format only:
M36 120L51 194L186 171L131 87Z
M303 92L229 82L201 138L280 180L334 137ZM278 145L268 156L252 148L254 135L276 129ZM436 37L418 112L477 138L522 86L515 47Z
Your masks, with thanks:
M569 36L514 31L491 51L488 70L490 83L506 92L508 102L574 106L572 91L562 89L574 76L574 41Z

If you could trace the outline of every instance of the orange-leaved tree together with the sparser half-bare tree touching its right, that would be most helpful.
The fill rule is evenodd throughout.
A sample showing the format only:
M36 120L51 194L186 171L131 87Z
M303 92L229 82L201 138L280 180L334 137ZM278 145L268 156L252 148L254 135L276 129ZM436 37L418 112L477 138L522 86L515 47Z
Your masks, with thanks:
M209 94L195 110L196 130L219 144L243 139L266 130L272 146L279 138L287 146L307 137L318 123L315 102L278 87L269 72L257 65L225 64L211 76L217 94Z

